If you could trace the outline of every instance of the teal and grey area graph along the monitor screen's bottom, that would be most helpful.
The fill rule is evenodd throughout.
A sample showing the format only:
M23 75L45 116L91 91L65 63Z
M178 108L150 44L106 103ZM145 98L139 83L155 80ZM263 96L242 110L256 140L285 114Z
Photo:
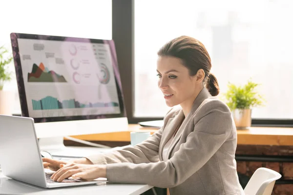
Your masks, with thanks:
M33 110L57 110L66 108L104 108L104 107L117 107L117 102L95 102L95 103L80 103L75 99L68 99L59 101L57 98L47 96L41 100L32 99Z

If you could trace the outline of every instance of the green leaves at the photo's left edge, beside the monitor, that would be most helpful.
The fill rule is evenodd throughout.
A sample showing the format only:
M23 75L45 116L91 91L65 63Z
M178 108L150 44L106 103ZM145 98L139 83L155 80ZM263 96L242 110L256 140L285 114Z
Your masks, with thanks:
M12 61L12 55L3 46L0 47L0 90L3 89L4 81L11 80L11 73L7 65Z

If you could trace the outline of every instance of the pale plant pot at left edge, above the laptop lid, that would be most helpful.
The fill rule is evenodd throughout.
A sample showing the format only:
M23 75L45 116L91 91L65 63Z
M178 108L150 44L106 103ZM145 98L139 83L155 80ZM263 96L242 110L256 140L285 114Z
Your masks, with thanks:
M12 115L14 92L0 90L0 115Z

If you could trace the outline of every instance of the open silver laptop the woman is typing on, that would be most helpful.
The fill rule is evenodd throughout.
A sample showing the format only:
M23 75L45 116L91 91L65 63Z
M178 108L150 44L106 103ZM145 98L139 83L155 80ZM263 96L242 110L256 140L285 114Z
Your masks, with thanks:
M101 180L65 179L55 182L45 173L36 137L34 119L0 115L0 163L2 174L42 188L79 186Z

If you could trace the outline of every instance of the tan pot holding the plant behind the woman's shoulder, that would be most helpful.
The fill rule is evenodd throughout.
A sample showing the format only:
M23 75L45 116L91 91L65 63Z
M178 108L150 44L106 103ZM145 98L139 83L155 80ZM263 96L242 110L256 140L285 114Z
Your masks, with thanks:
M235 109L232 116L237 129L249 129L251 127L251 109Z

